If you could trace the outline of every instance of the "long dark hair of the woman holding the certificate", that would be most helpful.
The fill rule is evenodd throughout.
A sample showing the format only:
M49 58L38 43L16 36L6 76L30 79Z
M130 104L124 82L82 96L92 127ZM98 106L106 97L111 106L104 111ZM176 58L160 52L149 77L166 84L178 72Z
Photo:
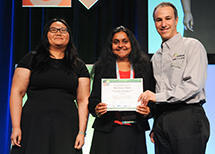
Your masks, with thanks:
M112 51L112 39L118 32L125 32L131 42L131 52L128 56L129 62L133 65L134 71L139 72L143 77L151 72L150 60L148 56L141 50L141 47L134 34L127 28L119 26L111 31L104 45L99 60L94 64L91 76L93 77L95 70L99 72L100 77L110 75L116 72L116 55Z

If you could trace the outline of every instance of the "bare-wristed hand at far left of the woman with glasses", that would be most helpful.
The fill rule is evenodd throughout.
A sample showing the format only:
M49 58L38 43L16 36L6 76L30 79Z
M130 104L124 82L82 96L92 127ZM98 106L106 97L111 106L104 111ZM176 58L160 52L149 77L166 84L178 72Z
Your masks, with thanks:
M21 147L20 142L21 142L21 137L22 131L20 128L14 128L11 134L11 143L12 145L16 145L18 147Z

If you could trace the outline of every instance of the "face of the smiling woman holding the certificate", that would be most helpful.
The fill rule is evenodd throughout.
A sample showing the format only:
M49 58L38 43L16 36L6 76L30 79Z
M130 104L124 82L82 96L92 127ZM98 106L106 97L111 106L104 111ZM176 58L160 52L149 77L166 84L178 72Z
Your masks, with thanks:
M120 31L114 34L112 39L112 51L117 56L117 59L128 60L131 49L130 39L125 32Z

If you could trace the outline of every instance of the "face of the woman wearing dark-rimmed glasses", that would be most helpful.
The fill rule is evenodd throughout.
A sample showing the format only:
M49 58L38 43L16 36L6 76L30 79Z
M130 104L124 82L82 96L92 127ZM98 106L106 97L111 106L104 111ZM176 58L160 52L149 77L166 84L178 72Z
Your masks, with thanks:
M64 48L69 42L69 33L67 27L60 21L53 22L47 33L49 48Z

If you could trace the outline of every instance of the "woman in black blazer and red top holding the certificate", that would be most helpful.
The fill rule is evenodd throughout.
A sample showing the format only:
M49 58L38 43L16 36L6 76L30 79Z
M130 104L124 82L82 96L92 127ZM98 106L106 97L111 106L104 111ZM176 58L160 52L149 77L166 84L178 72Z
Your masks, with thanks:
M153 84L150 60L142 52L130 30L120 26L109 35L92 75L93 89L89 98L89 111L95 117L91 154L146 154L145 131L149 130L148 106L136 106L133 111L109 111L102 102L102 79L143 80L143 91ZM107 84L107 83L105 83ZM117 98L118 99L118 98ZM138 100L138 98L135 98Z

